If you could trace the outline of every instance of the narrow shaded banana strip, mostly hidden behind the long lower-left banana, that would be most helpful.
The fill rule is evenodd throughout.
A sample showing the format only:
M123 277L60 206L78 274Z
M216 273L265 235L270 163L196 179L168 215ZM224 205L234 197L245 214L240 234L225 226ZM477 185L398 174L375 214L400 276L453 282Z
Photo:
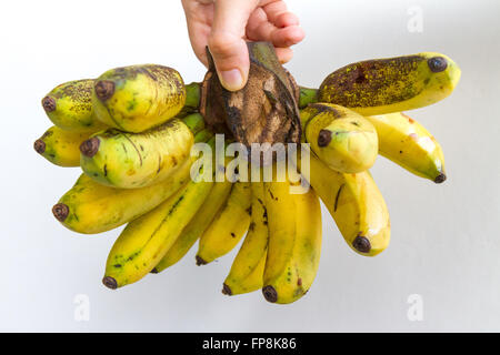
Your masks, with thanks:
M202 233L213 221L217 212L228 200L232 183L228 180L216 182L210 194L197 212L194 217L182 230L182 233L169 248L163 258L154 266L153 273L160 273L180 261L198 241Z

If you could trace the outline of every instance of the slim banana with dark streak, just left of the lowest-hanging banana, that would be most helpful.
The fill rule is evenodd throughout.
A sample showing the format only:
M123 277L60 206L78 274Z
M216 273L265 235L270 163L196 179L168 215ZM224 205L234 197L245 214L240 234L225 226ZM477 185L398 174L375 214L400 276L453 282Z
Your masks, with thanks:
M251 192L250 227L223 283L222 293L226 295L253 292L263 285L269 239L263 183L252 182Z

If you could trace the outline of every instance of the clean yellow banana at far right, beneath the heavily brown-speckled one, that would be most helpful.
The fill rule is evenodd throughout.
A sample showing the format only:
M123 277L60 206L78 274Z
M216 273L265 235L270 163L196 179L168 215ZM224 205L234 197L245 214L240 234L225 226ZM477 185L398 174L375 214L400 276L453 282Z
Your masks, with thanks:
M447 180L441 145L423 125L401 112L367 119L377 129L381 155L436 183Z

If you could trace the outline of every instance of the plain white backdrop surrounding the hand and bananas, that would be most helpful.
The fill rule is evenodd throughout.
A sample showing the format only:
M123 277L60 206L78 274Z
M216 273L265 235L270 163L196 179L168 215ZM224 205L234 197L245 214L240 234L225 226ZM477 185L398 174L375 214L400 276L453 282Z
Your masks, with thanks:
M101 284L119 230L79 235L51 206L78 169L32 149L51 125L41 98L56 84L127 64L173 67L187 82L204 68L177 0L9 1L0 9L1 331L443 332L500 331L499 1L288 1L307 33L287 68L317 87L347 63L439 51L462 69L456 92L410 112L441 142L448 181L436 185L379 159L372 169L391 213L389 248L351 252L328 212L310 292L292 305L260 292L228 297L221 283L236 250L207 266L196 247L176 266L131 286ZM423 31L408 30L417 6ZM77 322L74 297L90 302ZM407 316L419 294L423 320Z

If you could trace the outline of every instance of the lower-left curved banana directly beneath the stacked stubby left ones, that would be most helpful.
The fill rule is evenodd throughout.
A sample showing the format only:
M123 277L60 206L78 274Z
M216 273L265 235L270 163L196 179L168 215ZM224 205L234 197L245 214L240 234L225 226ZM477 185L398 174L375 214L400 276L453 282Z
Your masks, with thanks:
M141 189L102 185L86 174L52 207L67 229L97 234L113 230L151 211L190 180L191 161L186 161L161 183Z

